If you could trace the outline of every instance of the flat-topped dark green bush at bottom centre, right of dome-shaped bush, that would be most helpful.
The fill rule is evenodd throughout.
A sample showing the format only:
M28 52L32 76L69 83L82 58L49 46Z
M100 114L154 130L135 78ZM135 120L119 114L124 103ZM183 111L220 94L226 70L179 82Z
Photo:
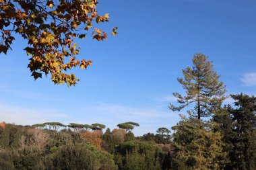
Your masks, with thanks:
M116 161L119 169L161 169L161 148L156 144L136 140L124 142L117 148Z

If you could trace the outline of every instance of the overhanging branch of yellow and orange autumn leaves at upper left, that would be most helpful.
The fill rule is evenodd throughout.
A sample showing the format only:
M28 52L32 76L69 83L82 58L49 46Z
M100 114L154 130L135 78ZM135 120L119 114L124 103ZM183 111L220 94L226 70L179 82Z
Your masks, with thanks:
M55 84L75 85L79 79L72 73L68 75L67 69L87 69L92 61L76 58L79 48L74 39L86 38L86 32L91 32L98 41L107 38L106 32L93 26L95 22L108 22L109 18L108 13L98 15L97 3L97 0L0 0L0 53L6 54L11 49L13 33L20 34L28 40L24 50L31 56L28 68L34 79L41 78L42 73L51 73ZM116 30L113 29L113 36Z

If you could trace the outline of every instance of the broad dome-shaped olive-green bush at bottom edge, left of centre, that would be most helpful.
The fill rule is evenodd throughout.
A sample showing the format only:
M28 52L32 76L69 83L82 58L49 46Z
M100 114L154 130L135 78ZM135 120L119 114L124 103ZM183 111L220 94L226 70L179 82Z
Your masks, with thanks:
M88 144L61 146L51 155L48 169L117 169L113 157Z

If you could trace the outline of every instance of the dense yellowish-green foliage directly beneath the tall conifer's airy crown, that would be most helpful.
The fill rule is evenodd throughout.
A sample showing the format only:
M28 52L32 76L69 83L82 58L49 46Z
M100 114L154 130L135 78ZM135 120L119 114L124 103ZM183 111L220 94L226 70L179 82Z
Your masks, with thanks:
M188 169L222 169L226 153L222 151L222 135L213 132L213 122L185 118L172 127L176 167Z

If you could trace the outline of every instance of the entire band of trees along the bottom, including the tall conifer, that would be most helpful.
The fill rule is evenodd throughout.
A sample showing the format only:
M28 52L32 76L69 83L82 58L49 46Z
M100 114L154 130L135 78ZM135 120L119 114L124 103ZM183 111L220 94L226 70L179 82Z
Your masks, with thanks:
M256 97L226 95L203 54L183 76L185 92L169 108L187 110L170 129L134 136L136 122L105 132L98 123L1 123L0 169L256 169ZM224 105L227 97L234 103Z

